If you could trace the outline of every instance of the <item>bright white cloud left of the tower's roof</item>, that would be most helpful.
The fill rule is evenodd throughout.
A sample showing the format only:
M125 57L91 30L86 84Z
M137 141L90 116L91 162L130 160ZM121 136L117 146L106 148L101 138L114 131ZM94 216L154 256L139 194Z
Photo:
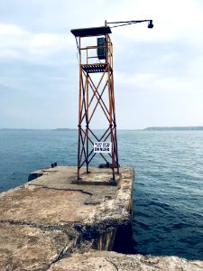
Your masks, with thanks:
M42 61L69 48L75 49L74 43L63 34L32 33L20 26L0 24L1 58Z

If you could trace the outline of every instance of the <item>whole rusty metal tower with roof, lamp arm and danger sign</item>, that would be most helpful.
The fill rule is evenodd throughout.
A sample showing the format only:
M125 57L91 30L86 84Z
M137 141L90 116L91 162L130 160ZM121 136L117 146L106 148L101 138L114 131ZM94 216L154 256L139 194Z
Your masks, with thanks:
M153 27L152 20L140 20L113 22L111 28L143 22L148 22L148 28ZM115 173L119 173L111 28L105 23L101 27L70 31L76 38L79 62L78 179L82 166L89 172L89 164L96 154L112 169L113 181ZM97 44L87 44L89 38L97 40ZM100 134L92 128L99 109L106 121L106 128Z

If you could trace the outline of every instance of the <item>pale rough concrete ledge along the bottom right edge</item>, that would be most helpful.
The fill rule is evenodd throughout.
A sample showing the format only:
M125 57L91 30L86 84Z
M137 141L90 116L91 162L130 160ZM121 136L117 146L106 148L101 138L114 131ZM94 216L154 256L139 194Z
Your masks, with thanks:
M202 271L202 261L180 257L124 255L109 251L72 254L53 264L49 271Z

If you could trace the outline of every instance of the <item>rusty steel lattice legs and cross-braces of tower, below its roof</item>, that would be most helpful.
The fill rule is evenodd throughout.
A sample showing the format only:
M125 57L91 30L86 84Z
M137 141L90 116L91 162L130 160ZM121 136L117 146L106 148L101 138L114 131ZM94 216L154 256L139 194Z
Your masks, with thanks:
M79 171L86 165L86 171L92 159L95 157L94 141L111 142L111 154L100 153L106 164L112 168L113 180L115 173L119 173L117 135L115 121L115 94L113 72L113 44L106 34L106 60L104 63L89 63L89 50L97 50L97 46L81 47L81 37L78 38L79 51L79 101L78 101L78 179ZM86 52L83 62L82 54ZM100 75L97 79L94 74ZM105 98L105 94L107 99ZM107 121L107 127L103 135L96 135L91 128L92 117L100 107Z

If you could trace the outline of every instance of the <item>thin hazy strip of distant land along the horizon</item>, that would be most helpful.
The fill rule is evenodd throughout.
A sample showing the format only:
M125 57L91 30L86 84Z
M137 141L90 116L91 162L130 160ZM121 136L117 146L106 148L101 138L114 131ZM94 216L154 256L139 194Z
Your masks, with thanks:
M26 128L0 128L0 131L76 131L77 128L55 128L55 129L26 129ZM94 129L100 130L100 129ZM101 129L103 130L103 129ZM152 126L143 129L118 129L132 131L203 131L203 126Z

